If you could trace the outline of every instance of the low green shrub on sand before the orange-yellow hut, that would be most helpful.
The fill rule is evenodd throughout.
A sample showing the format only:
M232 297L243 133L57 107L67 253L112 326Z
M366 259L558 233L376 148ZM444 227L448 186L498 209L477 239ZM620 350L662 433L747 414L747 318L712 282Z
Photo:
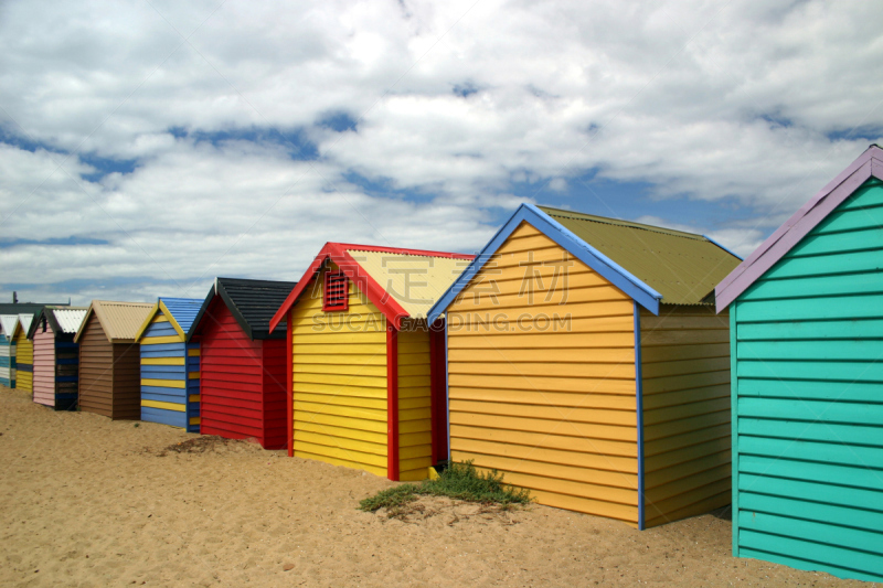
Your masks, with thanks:
M503 474L497 470L481 473L471 461L450 463L435 480L424 480L419 484L406 483L389 488L359 503L363 511L374 512L386 509L391 514L419 495L448 496L467 502L499 504L508 509L512 504L526 504L530 492L503 484Z

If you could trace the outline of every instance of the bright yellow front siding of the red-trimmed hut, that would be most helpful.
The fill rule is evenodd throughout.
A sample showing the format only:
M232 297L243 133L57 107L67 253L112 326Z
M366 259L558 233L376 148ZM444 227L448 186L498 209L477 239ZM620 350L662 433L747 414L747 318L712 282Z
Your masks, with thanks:
M317 277L318 288L307 287L288 317L294 453L385 477L386 321L352 280L347 280L349 309L323 312L327 272Z

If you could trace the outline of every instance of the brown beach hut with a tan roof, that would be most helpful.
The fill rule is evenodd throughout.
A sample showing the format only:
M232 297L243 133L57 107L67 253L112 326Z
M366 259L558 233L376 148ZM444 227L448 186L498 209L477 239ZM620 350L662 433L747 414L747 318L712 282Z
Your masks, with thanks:
M152 308L92 301L74 338L79 344L81 410L114 420L141 418L141 356L135 335Z

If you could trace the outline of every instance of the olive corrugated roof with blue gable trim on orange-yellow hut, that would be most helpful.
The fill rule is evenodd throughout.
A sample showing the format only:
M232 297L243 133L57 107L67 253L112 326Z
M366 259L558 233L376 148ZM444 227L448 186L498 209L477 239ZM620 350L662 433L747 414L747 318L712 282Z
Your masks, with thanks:
M529 223L659 314L659 304L700 304L738 257L702 235L522 204L429 311L438 318L521 225Z

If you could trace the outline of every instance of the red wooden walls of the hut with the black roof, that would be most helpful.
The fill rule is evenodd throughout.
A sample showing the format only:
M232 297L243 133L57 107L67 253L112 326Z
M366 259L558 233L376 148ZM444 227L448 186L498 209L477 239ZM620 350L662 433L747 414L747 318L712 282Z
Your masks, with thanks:
M200 432L285 448L285 340L251 341L221 297L200 333Z

